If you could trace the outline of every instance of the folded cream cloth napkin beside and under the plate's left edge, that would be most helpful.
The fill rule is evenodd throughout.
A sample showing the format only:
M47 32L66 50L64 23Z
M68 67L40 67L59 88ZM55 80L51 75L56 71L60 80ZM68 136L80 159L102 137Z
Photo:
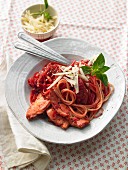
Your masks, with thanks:
M14 117L5 99L5 79L13 63L5 55L0 63L0 146L7 168L24 168L33 164L35 169L44 170L50 162L50 153L44 143L28 133Z

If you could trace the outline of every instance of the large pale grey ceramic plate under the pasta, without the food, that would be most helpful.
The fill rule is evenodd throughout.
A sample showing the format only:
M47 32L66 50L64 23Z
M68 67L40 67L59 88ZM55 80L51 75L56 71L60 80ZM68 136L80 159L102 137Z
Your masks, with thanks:
M70 127L67 130L62 130L42 118L28 121L26 111L29 107L30 88L28 87L27 79L33 73L39 71L48 61L26 53L17 59L7 75L6 99L8 105L19 123L41 140L59 144L72 144L87 140L102 131L118 112L125 93L124 75L117 63L108 54L83 40L55 38L45 42L45 44L71 60L90 58L102 52L106 59L106 65L113 65L107 74L109 82L115 87L115 91L109 101L103 105L103 115L92 120L90 125L84 129Z

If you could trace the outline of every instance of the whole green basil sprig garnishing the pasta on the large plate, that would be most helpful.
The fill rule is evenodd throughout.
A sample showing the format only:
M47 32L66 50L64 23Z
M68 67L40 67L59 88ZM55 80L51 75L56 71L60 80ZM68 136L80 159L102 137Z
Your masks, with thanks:
M110 67L105 66L105 58L102 53L97 57L92 66L82 66L81 68L85 74L95 75L105 86L108 85L108 78L104 73L108 71Z

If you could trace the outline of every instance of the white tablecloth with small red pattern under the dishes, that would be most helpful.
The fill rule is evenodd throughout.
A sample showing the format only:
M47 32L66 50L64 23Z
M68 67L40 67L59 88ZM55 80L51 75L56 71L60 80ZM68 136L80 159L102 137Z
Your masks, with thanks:
M14 49L21 12L38 0L5 0L0 2L0 55L7 53L16 60L23 53ZM54 37L75 37L104 49L114 58L128 77L127 8L125 0L50 0L61 16ZM53 37L53 38L54 38ZM128 87L128 86L127 86ZM125 170L127 160L128 98L107 127L92 139L73 144L46 143L52 161L49 170ZM0 147L0 169L6 164ZM17 169L17 168L15 168ZM28 166L27 170L34 170Z

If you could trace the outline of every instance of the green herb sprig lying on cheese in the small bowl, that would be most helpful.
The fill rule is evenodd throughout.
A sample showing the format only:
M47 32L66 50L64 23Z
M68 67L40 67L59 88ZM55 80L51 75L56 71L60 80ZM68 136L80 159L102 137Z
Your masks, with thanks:
M44 10L40 10L38 12L32 13L33 16L38 16L38 15L42 15L44 14L44 18L49 21L50 19L52 19L52 16L49 14L48 11L46 11L46 9L48 9L48 1L44 0Z

